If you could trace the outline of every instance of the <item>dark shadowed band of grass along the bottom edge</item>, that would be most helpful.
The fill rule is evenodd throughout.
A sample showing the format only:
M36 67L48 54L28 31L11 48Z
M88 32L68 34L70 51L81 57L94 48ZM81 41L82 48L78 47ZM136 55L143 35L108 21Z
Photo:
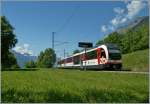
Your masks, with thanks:
M143 97L130 91L86 89L83 92L49 90L46 92L2 91L2 103L148 103L148 93Z

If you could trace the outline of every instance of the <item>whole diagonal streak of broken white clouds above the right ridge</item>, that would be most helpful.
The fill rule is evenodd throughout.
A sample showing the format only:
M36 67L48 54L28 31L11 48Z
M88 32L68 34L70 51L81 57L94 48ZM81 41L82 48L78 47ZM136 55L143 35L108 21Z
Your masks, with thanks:
M145 6L146 2L142 0L124 0L126 8L116 7L114 8L115 17L110 20L108 25L101 27L102 32L114 31L120 25L123 25L128 20L133 19Z

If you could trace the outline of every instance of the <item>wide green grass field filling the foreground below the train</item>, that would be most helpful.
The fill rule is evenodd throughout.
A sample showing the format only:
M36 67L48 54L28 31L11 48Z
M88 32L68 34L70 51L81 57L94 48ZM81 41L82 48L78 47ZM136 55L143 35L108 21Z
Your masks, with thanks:
M2 102L148 102L148 74L2 71Z

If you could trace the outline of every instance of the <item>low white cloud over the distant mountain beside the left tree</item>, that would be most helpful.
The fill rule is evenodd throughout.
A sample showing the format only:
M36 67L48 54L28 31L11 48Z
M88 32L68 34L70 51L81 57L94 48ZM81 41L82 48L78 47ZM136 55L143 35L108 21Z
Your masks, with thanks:
M23 44L23 46L16 46L15 48L13 48L13 50L21 54L33 54L32 51L29 50L29 44Z

